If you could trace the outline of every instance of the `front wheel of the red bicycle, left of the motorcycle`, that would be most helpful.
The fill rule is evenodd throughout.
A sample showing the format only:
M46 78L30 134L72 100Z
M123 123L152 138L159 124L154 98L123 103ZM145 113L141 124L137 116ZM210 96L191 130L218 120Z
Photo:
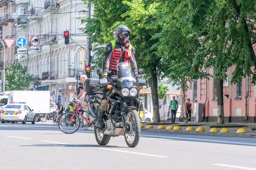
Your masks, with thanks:
M61 132L66 134L72 134L75 133L80 126L80 119L77 114L74 114L74 112L66 112L61 115L59 121L58 121L58 127L60 128ZM73 119L71 120L73 116Z

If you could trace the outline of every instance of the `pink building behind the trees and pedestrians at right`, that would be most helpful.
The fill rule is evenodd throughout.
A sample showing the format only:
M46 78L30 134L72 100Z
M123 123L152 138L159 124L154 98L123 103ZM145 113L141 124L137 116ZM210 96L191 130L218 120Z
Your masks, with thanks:
M249 96L247 98L247 113L248 120L245 118L245 99L246 95L246 79L242 79L241 83L230 85L232 79L232 72L234 67L231 67L227 71L227 79L223 84L224 94L224 116L225 122L256 122L256 86L250 84L249 79ZM189 98L192 103L192 109L195 108L195 103L202 103L203 119L206 122L217 122L217 97L214 69L209 69L209 74L213 75L209 80L198 79L189 83L189 90L185 92L185 100ZM183 96L183 91L180 93ZM193 111L191 121L194 122L195 112Z

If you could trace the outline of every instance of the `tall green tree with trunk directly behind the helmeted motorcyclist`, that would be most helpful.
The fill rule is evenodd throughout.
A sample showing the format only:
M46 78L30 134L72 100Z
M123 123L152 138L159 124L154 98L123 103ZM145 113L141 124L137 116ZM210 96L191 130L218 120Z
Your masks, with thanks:
M91 34L92 42L106 45L113 39L112 33L116 26L123 24L130 28L131 44L136 49L138 68L145 70L144 77L151 87L153 104L153 122L160 122L159 103L157 94L157 82L164 74L165 66L162 57L157 56L157 38L155 33L161 31L157 16L162 12L158 6L160 3L154 0L108 0L96 1L94 18L87 19L85 33ZM104 49L95 48L98 51L96 64L102 66Z

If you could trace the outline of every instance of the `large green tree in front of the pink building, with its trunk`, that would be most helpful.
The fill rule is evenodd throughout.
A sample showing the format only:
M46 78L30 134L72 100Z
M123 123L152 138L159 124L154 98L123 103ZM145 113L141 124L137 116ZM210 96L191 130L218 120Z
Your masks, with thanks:
M181 37L177 39L180 42L175 48L170 49L171 55L164 58L171 58L166 60L172 63L172 70L168 72L184 73L181 75L186 78L180 77L177 82L185 80L180 84L186 86L187 80L204 77L202 72L213 67L215 77L218 78L218 123L221 124L224 123L223 80L227 78L227 69L236 65L231 83L241 82L246 75L253 75L254 83L256 80L256 57L252 47L256 43L256 33L251 21L256 19L255 5L255 0L163 0L162 3L166 13L163 17L163 31L160 33L160 54L163 54L163 49L167 50L169 44L177 43L173 40L163 45L164 40L175 36L172 31L177 32L176 37ZM189 47L194 49L188 54L183 53L189 51ZM175 63L175 59L185 63L177 67L179 63ZM187 59L190 63L186 62Z

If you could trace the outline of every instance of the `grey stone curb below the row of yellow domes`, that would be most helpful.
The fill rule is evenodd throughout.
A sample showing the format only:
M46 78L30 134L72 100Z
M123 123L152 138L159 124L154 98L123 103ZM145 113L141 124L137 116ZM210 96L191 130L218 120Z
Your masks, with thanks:
M204 132L204 131L193 131L193 130L167 130L167 129L146 129L141 130L155 131L155 132L167 132L167 133L189 133L189 134L202 134L202 135L217 135L217 136L240 136L240 137L253 137L256 134L248 133L220 133L220 132Z

